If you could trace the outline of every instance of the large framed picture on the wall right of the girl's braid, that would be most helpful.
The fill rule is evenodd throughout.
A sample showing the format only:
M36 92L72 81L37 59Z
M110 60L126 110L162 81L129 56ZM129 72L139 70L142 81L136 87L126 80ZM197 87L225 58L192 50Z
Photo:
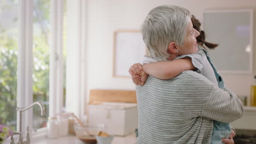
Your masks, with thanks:
M253 9L205 10L203 30L219 44L209 51L219 72L253 72Z

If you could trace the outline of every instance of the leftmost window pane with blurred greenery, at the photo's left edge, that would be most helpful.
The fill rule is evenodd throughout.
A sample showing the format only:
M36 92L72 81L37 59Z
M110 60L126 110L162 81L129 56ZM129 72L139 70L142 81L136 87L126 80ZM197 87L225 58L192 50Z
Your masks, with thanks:
M0 1L0 124L16 130L18 0Z

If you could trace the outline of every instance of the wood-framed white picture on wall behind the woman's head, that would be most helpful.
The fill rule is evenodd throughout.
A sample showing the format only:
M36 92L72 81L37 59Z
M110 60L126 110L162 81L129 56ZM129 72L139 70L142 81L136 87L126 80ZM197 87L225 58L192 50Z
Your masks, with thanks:
M114 31L113 77L130 78L129 68L146 55L146 45L139 31Z

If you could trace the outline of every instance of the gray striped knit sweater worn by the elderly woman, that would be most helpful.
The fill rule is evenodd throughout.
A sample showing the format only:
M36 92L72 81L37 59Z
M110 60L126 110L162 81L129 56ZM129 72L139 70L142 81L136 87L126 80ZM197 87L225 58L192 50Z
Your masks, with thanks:
M244 112L235 93L191 70L170 80L149 76L136 93L137 144L210 143L213 119L230 123Z

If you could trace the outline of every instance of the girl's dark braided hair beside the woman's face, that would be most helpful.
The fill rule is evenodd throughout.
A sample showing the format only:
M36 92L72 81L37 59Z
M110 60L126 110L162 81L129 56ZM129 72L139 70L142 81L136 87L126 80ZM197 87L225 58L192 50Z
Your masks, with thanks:
M201 44L202 46L203 44L205 44L209 49L214 49L219 45L219 44L213 44L213 43L209 43L208 41L205 41L205 37L206 37L205 31L201 31L201 28L200 28L201 22L197 20L194 15L192 15L191 21L193 23L193 28L195 28L200 33L200 35L196 37L197 43Z

